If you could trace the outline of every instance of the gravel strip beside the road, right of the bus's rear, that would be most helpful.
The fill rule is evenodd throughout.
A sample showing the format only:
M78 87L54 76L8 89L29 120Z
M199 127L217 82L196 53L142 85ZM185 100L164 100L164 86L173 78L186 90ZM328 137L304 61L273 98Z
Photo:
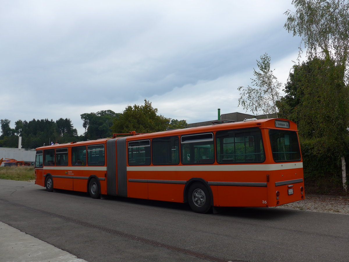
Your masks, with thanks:
M349 198L305 196L304 200L277 206L276 208L349 214Z

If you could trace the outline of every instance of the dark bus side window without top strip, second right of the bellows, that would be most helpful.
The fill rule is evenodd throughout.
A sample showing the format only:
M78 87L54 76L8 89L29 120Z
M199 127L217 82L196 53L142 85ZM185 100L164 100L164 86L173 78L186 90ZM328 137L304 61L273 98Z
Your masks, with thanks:
M151 141L153 152L153 165L179 164L179 139L178 137L154 138Z

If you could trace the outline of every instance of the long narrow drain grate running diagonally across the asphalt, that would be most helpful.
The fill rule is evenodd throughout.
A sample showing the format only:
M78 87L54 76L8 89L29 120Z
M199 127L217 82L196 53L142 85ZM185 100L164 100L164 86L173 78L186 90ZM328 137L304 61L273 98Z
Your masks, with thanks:
M91 227L91 228L96 228L98 230L101 230L101 231L104 231L104 232L107 232L107 233L110 233L110 234L122 236L124 238L136 240L136 241L139 241L139 242L142 242L142 243L147 243L149 245L153 245L153 246L157 246L157 247L164 247L164 248L170 249L172 251L177 251L177 252L180 252L180 253L183 253L183 254L186 254L186 255L195 256L195 257L198 257L198 258L201 258L201 259L205 259L205 260L208 260L208 261L213 261L213 262L231 262L231 260L220 259L220 258L217 258L217 257L201 254L201 253L194 252L194 251L191 251L191 250L187 250L187 249L184 249L184 248L179 248L179 247L174 247L174 246L170 246L170 245L165 245L165 244L162 244L162 243L159 243L159 242L156 242L156 241L153 241L153 240L149 240L149 239L146 239L146 238L139 238L139 237L137 237L135 235L125 234L125 233L123 233L121 231L113 230L111 228L98 226L98 225L90 224L90 223L87 223L87 222L84 222L84 221L76 220L74 218L61 216L59 214L47 212L47 211L36 209L36 208L31 208L30 206L26 206L26 205L22 205L22 204L18 204L18 203L13 203L13 202L7 201L5 199L1 199L1 200L3 202L5 202L5 203L11 204L11 205L19 206L21 208L29 209L29 210L32 210L32 211L35 211L35 212L39 212L39 213L42 213L42 214L45 214L45 215L48 215L48 216L51 216L51 217L60 218L60 219L63 219L63 220L66 220L66 221L69 221L69 222L72 222L72 223L75 223L75 224L78 224L78 225L87 226L87 227Z

